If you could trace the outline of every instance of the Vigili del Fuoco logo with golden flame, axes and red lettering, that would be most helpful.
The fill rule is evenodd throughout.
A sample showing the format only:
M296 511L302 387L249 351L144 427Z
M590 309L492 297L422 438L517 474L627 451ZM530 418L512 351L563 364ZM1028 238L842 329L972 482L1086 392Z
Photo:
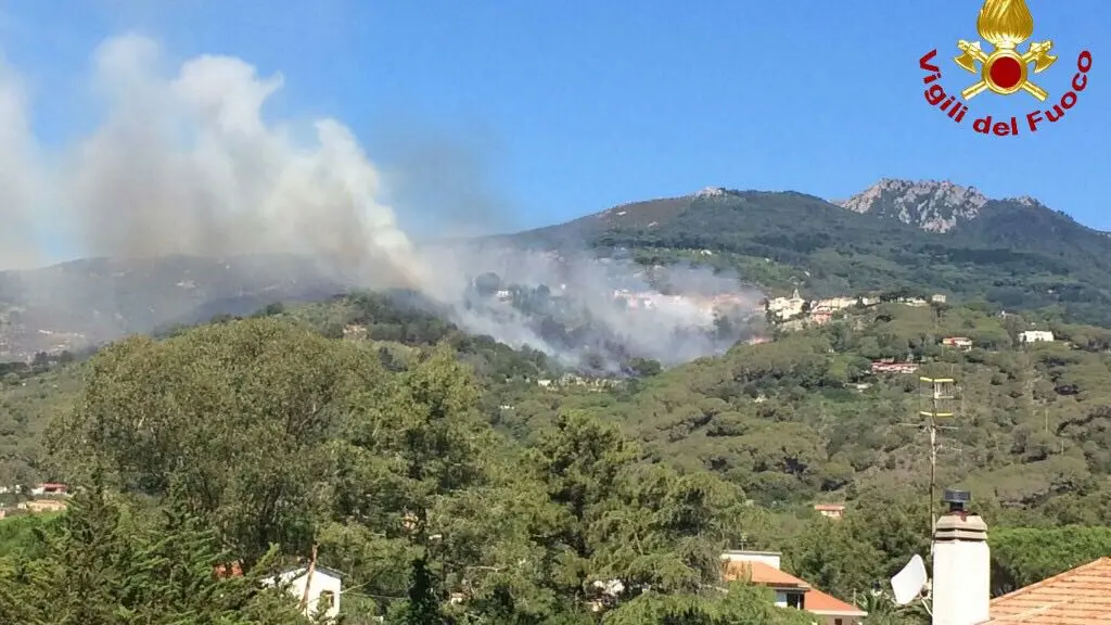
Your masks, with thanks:
M1083 50L1077 57L1072 71L1072 81L1068 90L1060 96L1051 93L1034 77L1041 78L1042 72L1053 67L1058 58L1050 54L1052 40L1031 41L1025 50L1019 48L1033 34L1034 19L1030 14L1025 0L985 0L977 19L977 32L980 39L991 46L985 51L980 41L957 42L960 52L953 58L957 67L971 73L973 78L960 96L948 91L941 85L941 68L934 65L938 50L934 48L918 61L918 66L928 75L922 82L925 88L925 101L945 113L955 123L964 123L972 98L990 91L997 96L1029 97L1037 100L1035 108L1023 118L993 119L983 115L971 119L972 129L982 135L1012 137L1027 132L1037 132L1048 123L1060 121L1065 112L1077 105L1080 93L1088 87L1088 72L1092 69L1092 53ZM1053 72L1050 72L1053 73ZM978 100L977 105L982 101ZM984 107L988 108L987 106ZM983 111L988 112L988 111Z

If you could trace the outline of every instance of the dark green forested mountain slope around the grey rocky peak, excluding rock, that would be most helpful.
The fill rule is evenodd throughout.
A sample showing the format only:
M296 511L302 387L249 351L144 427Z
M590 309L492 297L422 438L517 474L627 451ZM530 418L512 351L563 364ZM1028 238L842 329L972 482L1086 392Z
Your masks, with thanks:
M510 240L585 242L644 262L693 258L813 297L911 288L1008 309L1055 305L1070 320L1111 325L1105 232L1030 199L984 201L975 218L938 232L883 207L861 214L793 191L719 189L633 202Z

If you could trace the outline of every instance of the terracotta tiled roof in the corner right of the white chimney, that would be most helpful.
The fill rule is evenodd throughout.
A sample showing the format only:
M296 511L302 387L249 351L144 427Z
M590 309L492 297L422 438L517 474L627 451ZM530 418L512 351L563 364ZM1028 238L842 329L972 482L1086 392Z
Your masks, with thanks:
M1111 625L1111 558L992 599L984 625Z

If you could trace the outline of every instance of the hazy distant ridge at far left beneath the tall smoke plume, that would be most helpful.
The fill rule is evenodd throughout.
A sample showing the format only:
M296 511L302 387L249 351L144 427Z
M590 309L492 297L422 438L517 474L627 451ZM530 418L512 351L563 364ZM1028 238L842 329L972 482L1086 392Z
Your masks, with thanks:
M161 256L86 258L40 269L0 268L0 356L82 349L171 323L248 315L276 300L341 292L311 259Z

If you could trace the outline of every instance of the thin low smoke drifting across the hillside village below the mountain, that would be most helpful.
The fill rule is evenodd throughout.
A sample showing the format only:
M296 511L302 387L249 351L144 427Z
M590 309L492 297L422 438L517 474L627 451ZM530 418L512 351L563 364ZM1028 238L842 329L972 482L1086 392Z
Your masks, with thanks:
M621 369L619 356L675 365L720 354L752 334L745 327L722 327L721 310L737 308L732 318L743 321L763 297L754 289L741 288L735 276L714 275L708 268L645 268L628 259L599 259L584 251L534 252L486 246L429 257L471 271L489 271L500 279L501 297L477 298L468 306L454 307L460 325L512 346L540 349L570 366L587 364L592 356L598 361L591 368L611 373ZM444 275L446 280L461 277ZM541 286L546 296L540 301L529 297ZM441 287L440 292L460 290L457 282ZM564 310L565 315L558 317L573 320L574 326L546 328L536 323L534 315L524 312L538 309ZM572 340L565 340L569 336Z

